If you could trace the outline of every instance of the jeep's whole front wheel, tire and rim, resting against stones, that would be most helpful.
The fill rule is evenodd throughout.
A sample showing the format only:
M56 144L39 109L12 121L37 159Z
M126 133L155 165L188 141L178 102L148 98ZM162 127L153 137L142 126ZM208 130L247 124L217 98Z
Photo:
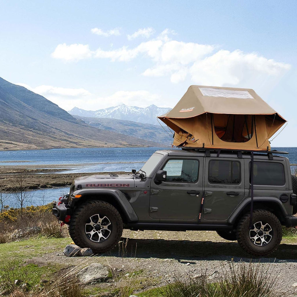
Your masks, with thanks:
M90 200L81 204L71 216L69 234L79 247L89 247L93 252L104 253L120 240L123 222L111 204Z

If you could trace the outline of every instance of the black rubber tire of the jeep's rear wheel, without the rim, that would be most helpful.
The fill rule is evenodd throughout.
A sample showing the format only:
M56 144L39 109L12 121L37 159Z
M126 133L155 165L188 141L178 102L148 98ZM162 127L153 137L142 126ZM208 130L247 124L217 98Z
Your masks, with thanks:
M254 226L255 223L261 221L263 224L269 224L273 231L271 240L265 246L257 246L250 239L249 220L250 214L245 214L237 225L236 237L241 248L256 256L274 252L282 240L282 225L279 219L267 210L257 209L253 211L252 225Z

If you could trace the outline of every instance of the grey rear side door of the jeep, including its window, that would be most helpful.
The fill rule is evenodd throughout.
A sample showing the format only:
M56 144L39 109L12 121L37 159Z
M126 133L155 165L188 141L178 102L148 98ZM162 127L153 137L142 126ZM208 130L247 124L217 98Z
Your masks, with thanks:
M244 199L244 159L206 158L203 218L226 220Z

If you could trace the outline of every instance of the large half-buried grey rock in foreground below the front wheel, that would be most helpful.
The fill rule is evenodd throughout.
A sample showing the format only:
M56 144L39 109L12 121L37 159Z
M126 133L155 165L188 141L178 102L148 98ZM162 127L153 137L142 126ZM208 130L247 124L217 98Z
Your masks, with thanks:
M108 268L99 263L92 263L89 266L81 269L77 276L80 282L103 282L108 279Z

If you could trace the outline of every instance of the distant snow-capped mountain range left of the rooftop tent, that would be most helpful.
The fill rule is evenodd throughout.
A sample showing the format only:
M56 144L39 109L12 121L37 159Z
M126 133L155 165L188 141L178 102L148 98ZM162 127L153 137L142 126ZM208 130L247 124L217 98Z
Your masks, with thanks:
M145 108L121 104L95 111L75 107L72 108L72 110L69 110L68 113L72 116L110 118L157 125L157 116L161 116L169 110L171 110L171 108L157 107L153 104Z

